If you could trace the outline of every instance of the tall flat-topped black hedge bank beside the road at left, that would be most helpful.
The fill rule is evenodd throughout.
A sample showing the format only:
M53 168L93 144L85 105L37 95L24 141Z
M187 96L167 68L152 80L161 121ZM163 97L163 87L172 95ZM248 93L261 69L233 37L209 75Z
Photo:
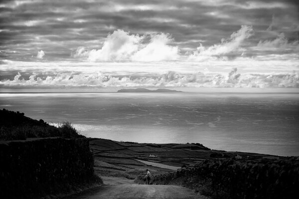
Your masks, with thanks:
M57 193L95 180L87 139L2 142L0 160L0 198Z

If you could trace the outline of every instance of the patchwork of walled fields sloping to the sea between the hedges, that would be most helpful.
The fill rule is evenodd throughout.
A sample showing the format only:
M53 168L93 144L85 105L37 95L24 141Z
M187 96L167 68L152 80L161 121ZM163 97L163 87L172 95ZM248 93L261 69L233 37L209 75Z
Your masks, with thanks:
M100 176L135 179L149 169L153 175L175 171L205 160L264 160L283 157L211 150L199 143L148 144L90 138L95 172ZM167 167L169 166L169 167Z

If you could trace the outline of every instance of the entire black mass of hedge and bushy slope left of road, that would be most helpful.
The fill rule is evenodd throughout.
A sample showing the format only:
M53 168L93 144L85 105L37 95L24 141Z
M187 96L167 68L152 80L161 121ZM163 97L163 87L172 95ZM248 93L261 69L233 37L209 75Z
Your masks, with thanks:
M88 139L70 123L56 128L5 109L0 116L1 199L60 198L102 184Z

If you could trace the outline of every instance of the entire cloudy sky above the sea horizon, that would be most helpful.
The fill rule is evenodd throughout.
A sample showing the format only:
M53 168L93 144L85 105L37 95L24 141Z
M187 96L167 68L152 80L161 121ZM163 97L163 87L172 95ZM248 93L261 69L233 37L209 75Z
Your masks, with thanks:
M293 88L298 0L1 0L0 89Z

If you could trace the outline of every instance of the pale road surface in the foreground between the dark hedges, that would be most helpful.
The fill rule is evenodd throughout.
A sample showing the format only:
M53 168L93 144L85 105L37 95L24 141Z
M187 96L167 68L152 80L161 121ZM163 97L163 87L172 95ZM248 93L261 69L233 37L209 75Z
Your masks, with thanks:
M70 199L205 199L194 191L171 185L104 185Z

